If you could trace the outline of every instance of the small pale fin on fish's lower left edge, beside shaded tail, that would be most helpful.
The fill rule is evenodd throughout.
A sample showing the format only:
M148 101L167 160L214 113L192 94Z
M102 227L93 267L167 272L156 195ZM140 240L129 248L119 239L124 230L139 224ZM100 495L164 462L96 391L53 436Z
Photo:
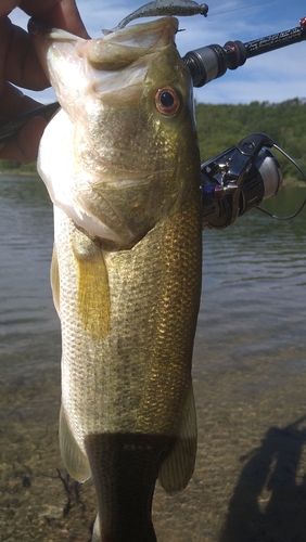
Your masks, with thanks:
M61 406L60 413L60 449L62 460L69 475L77 481L86 481L91 476L87 455L79 448Z

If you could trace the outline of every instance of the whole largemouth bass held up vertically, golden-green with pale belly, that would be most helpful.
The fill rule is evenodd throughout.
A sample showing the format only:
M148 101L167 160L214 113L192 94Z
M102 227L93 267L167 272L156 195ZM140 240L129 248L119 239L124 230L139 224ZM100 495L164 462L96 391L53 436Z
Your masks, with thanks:
M62 327L60 448L93 476L93 541L156 540L157 477L193 473L201 291L200 155L177 20L84 40L31 25L62 111L38 168L54 203Z

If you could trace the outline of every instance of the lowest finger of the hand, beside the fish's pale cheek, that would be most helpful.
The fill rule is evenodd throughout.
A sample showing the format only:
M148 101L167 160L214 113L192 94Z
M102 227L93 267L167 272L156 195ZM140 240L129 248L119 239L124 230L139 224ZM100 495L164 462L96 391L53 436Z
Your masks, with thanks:
M0 145L0 158L29 164L37 159L39 142L47 120L42 117L31 118L20 131L16 140Z

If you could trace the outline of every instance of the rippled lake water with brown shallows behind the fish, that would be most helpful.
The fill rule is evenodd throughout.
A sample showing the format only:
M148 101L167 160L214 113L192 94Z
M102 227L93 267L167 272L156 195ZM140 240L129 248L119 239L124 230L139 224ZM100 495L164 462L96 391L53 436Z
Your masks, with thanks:
M269 202L291 212L305 190ZM91 482L58 444L60 326L52 207L37 178L0 178L0 541L90 540ZM187 490L154 496L158 542L305 542L306 210L204 231L193 378L199 452Z

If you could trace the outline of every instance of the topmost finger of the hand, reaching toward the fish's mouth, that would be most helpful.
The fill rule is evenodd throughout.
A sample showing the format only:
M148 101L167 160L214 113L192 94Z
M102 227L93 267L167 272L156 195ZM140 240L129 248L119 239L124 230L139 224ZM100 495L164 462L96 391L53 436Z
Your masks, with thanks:
M75 0L44 0L43 2L22 0L20 8L28 15L39 17L48 26L63 28L81 38L89 38Z

